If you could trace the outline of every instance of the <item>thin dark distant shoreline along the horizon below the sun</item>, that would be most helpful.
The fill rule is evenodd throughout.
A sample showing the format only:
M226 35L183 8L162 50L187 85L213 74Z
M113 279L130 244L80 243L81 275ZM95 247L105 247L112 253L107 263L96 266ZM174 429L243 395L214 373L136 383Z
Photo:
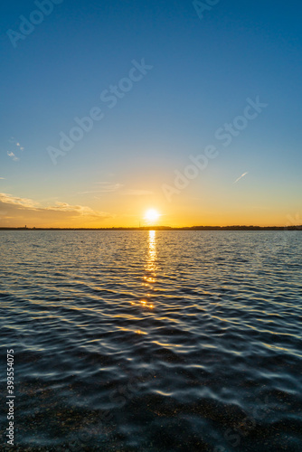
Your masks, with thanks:
M171 228L169 226L145 226L141 228L9 228L0 231L302 231L300 226L189 226Z

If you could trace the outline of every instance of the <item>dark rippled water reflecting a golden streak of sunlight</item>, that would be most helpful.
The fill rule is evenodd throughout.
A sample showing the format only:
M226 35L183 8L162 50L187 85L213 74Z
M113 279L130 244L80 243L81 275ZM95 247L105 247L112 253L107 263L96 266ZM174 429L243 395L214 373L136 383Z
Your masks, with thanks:
M301 231L0 240L17 450L302 451Z

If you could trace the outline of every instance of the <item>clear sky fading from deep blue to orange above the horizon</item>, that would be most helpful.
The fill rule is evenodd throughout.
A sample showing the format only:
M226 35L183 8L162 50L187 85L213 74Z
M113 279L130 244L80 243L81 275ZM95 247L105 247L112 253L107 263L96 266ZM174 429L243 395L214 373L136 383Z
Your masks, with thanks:
M301 2L0 9L0 227L302 223Z

